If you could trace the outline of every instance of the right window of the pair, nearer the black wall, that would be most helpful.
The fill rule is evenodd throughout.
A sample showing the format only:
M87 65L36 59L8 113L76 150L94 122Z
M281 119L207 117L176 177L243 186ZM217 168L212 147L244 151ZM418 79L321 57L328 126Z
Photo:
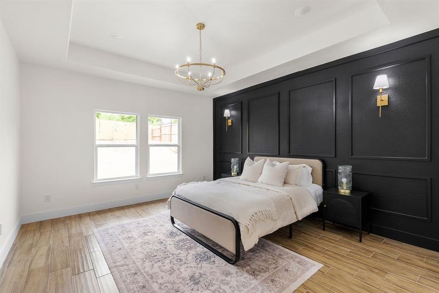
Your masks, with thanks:
M181 172L180 118L148 117L148 176Z

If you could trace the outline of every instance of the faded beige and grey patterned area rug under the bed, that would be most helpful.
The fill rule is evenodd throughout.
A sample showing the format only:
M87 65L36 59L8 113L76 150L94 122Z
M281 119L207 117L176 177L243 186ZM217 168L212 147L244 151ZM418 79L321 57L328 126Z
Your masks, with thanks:
M322 267L265 239L230 265L174 228L169 213L94 232L120 293L291 293Z

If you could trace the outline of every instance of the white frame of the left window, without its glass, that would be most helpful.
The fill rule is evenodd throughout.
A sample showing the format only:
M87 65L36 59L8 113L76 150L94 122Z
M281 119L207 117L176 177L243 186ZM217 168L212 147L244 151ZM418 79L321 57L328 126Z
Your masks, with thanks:
M119 115L133 115L136 116L136 144L100 144L98 145L96 143L96 113L108 113L108 114L119 114ZM140 178L139 173L139 124L140 124L140 115L138 113L130 113L130 112L120 112L120 111L108 111L108 110L98 110L95 109L94 115L93 115L93 121L94 121L94 149L95 149L95 158L94 158L94 165L95 165L95 178L93 182L108 182L108 181L119 181L119 180L128 180L128 179L138 179ZM135 171L136 174L132 176L122 176L122 177L111 177L111 178L100 178L98 179L98 148L100 147L134 147L135 153L136 153L136 159L135 159Z

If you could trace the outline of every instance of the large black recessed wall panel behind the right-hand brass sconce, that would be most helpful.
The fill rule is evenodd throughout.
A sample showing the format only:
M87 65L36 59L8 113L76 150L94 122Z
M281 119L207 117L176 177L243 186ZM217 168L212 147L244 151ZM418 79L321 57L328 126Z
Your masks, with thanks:
M430 158L429 61L422 58L352 76L352 157ZM377 106L375 79L386 74L389 105Z

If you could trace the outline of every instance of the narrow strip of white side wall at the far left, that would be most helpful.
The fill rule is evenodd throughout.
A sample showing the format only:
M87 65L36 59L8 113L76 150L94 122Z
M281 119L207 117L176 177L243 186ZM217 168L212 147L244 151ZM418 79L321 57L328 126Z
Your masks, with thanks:
M20 220L19 61L0 21L0 266Z

